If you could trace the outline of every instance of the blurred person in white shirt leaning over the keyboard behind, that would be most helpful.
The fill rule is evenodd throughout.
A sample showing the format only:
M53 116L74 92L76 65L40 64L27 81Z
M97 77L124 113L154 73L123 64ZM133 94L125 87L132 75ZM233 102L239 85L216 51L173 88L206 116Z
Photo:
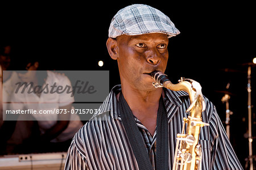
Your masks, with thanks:
M71 86L71 81L64 74L40 71L42 63L35 57L29 57L24 60L24 63L27 71L18 73L20 82L11 99L11 109L36 110L39 114L28 115L37 121L40 135L24 140L16 150L25 150L23 152L67 151L74 134L83 124L79 115L71 114L74 97L65 92L55 92L57 88ZM59 110L63 110L63 114L57 113ZM50 114L44 114L47 112ZM24 115L20 115L22 119Z

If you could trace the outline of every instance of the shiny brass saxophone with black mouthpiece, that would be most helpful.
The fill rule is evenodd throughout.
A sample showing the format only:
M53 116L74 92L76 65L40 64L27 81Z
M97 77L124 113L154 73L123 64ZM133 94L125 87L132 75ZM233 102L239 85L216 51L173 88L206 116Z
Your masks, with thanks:
M174 166L172 169L201 169L201 146L199 142L200 127L209 126L202 122L201 113L205 109L205 101L201 92L199 82L188 78L181 78L178 84L172 84L166 74L155 71L151 73L155 82L155 88L167 88L174 91L183 90L189 94L191 105L187 112L188 118L183 118L183 128L181 134L177 134ZM185 123L187 123L187 133L185 134Z

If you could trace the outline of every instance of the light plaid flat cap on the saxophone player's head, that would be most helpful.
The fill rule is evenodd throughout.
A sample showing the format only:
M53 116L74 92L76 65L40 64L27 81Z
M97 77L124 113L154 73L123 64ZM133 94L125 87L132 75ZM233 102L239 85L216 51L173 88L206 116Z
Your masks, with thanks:
M161 11L142 4L127 6L117 12L109 27L109 37L120 35L167 34L168 38L180 34L170 18Z

